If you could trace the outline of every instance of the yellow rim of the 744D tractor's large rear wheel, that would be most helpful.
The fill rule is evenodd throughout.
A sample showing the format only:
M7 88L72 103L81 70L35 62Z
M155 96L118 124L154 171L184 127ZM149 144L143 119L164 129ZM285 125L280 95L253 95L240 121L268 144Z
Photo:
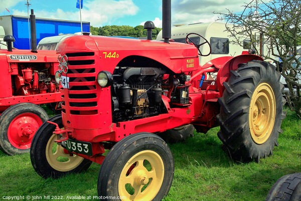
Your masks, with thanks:
M256 144L263 144L269 138L275 122L275 111L275 95L271 86L259 84L254 90L249 109L249 129Z

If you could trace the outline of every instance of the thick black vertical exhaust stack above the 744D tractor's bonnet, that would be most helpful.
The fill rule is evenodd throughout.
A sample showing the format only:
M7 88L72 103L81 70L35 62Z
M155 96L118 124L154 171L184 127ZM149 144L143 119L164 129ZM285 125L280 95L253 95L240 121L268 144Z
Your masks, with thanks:
M172 35L172 8L171 0L162 0L162 38L169 43Z

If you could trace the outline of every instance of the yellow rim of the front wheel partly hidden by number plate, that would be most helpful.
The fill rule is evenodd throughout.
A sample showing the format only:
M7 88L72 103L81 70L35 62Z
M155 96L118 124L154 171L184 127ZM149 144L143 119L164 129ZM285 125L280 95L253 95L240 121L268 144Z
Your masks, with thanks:
M84 158L77 155L70 156L66 154L64 148L54 142L55 139L56 135L52 135L46 146L46 158L49 165L61 172L73 170Z

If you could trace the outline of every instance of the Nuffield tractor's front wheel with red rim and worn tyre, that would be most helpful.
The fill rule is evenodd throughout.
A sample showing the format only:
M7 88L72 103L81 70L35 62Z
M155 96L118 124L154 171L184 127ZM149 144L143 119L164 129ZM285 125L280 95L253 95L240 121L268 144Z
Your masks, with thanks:
M36 131L47 119L47 113L31 103L8 108L0 118L1 150L8 155L28 153Z

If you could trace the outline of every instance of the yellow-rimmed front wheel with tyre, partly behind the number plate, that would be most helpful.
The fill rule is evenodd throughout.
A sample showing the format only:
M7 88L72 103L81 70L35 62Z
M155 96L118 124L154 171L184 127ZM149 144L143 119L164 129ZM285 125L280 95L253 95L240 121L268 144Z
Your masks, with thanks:
M62 115L57 115L49 121L63 127ZM43 178L59 178L68 173L79 173L87 170L92 161L80 156L64 152L64 148L54 142L55 126L45 122L34 136L30 149L30 159L36 172Z

